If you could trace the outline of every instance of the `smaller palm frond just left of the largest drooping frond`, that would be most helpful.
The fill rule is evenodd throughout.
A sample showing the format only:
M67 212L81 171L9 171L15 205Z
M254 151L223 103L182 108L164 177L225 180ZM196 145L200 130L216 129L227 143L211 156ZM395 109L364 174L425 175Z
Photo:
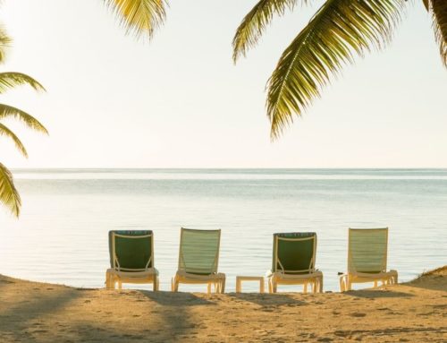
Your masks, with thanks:
M232 59L236 63L242 55L246 56L250 47L255 47L257 41L272 21L274 14L283 15L286 10L293 10L299 0L260 0L242 19L236 34L232 39ZM300 0L308 4L310 0Z

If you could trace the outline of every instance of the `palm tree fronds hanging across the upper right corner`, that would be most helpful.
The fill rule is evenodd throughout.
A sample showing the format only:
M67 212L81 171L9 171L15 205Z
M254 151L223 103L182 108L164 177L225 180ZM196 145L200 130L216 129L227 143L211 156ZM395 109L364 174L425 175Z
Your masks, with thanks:
M447 66L447 0L422 0L433 15L434 37L443 64ZM311 0L259 0L241 21L233 39L234 63L246 56L250 47L272 21L297 4ZM410 2L404 0L326 0L291 41L267 81L266 111L271 137L277 138L294 116L301 116L333 75L355 56L382 48Z

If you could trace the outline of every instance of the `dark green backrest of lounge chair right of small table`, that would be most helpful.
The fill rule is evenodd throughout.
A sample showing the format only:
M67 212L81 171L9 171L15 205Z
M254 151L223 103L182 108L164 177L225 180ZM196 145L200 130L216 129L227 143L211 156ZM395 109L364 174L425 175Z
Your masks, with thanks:
M315 271L315 260L315 232L274 234L272 271L308 274Z

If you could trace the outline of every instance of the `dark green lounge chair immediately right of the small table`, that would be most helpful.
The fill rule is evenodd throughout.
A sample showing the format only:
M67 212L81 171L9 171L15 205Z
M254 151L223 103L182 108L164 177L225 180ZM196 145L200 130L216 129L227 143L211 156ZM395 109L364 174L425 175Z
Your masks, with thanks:
M278 285L308 285L314 293L323 292L323 273L315 269L316 233L274 234L272 270L267 271L268 291L276 293Z

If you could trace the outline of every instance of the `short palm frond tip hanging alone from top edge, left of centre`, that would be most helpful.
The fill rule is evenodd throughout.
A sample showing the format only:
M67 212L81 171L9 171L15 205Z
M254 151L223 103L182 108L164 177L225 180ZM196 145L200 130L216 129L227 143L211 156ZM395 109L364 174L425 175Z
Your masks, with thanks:
M165 18L164 0L104 0L122 22L128 33L152 37Z

